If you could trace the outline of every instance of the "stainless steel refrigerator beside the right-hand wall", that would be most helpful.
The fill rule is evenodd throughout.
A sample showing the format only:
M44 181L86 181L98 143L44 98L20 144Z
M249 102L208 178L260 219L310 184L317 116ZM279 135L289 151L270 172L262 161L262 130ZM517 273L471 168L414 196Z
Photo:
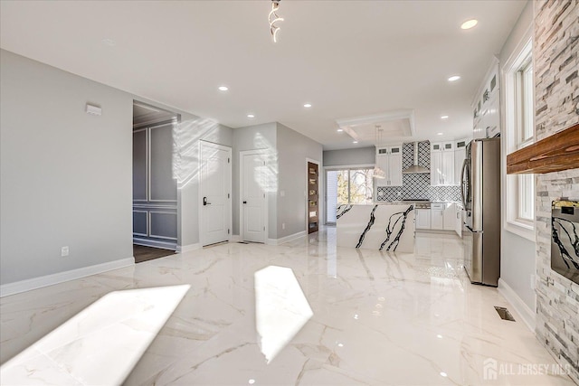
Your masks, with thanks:
M473 284L498 286L500 275L500 138L467 145L460 193L464 268Z

